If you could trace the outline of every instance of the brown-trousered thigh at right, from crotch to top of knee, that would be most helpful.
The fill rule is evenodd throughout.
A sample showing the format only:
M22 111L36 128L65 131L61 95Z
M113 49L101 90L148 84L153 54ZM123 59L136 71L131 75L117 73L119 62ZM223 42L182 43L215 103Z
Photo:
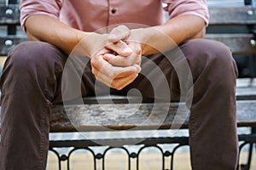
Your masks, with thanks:
M137 89L145 99L183 100L193 93L191 87L201 72L215 61L222 63L218 67L224 63L234 65L230 49L223 43L189 40L164 54L143 56L143 70L137 79L121 91L113 90L113 93L127 94L131 89ZM224 67L216 68L216 74L223 70Z

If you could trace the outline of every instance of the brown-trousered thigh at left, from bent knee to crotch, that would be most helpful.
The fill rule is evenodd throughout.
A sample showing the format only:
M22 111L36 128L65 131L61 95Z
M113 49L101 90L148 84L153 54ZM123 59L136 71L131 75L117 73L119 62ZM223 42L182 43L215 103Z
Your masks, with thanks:
M67 100L94 95L95 77L91 73L90 62L84 65L86 59L89 60L85 56L69 56L47 42L22 42L9 53L4 64L2 93L6 93L5 87L15 83L22 83L26 87L30 83L37 84L45 99L53 104L62 102L62 94L68 94ZM12 77L23 78L14 80ZM19 80L22 82L17 82ZM73 85L78 82L79 88L75 90L77 88L73 88Z

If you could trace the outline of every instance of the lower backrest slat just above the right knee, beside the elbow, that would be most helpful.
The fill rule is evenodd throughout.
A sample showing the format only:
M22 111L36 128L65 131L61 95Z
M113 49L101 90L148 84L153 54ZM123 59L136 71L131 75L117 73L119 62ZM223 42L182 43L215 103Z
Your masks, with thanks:
M206 38L223 42L233 54L256 54L253 34L207 34Z

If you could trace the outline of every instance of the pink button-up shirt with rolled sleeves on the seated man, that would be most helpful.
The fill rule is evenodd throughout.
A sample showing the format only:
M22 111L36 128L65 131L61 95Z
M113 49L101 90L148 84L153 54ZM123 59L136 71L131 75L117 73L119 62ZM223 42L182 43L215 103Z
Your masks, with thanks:
M82 31L123 23L156 26L166 21L165 10L170 18L194 14L208 23L206 0L20 0L20 23L47 14Z

